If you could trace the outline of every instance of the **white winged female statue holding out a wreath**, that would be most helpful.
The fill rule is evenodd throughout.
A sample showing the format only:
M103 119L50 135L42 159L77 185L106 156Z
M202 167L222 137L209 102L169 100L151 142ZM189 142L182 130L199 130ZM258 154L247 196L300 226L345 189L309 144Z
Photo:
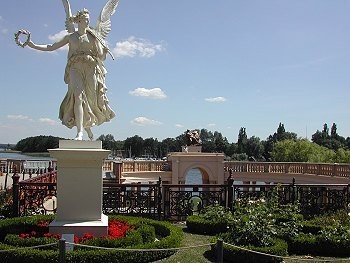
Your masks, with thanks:
M91 127L110 121L115 113L109 106L105 85L106 69L103 61L107 53L113 58L105 38L111 31L111 16L115 13L119 0L108 0L102 9L95 28L89 25L90 16L87 9L72 15L68 0L62 0L66 11L66 29L68 34L61 40L48 45L35 44L30 39L30 32L19 30L15 34L16 43L24 47L54 51L68 45L68 59L64 81L68 91L63 99L59 118L68 128L76 127L75 140L83 139L83 131L93 139ZM75 28L77 25L77 28ZM26 35L24 43L20 35Z

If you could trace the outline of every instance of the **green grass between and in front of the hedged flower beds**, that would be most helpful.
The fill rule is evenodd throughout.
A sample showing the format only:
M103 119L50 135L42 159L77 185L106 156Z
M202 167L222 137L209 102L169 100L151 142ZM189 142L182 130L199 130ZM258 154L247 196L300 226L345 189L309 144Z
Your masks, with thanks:
M203 244L210 244L215 242L215 237L207 235L191 234L186 231L186 226L181 226L184 231L184 239L181 247L191 247ZM214 241L213 241L214 240ZM154 263L212 263L216 262L215 258L210 256L210 245L201 246L188 249L180 249L174 255L169 258L156 261ZM310 257L310 256L290 256L285 258L284 263L300 263L300 262L312 262L312 263L350 263L349 259L329 258L329 257Z

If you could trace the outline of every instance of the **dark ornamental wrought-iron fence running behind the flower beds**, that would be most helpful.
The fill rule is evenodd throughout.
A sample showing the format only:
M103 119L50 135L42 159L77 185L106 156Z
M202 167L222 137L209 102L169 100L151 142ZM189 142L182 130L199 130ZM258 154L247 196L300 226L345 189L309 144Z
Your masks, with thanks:
M13 176L13 216L55 213L57 200L56 172L19 181ZM33 182L34 181L34 182ZM233 210L244 198L268 198L277 193L281 204L298 203L304 215L347 209L350 203L347 184L118 184L103 181L103 212L166 220L184 220L210 205L220 204Z

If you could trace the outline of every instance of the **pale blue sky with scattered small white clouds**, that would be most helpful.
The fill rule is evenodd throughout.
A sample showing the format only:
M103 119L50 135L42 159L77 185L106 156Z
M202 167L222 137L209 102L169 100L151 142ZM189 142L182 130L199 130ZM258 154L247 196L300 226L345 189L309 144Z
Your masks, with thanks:
M70 0L90 11L106 0ZM107 42L107 96L116 117L93 127L116 140L174 138L187 129L239 129L265 140L279 123L311 138L323 124L350 136L350 1L120 0ZM0 2L0 143L74 138L58 119L67 48L16 45L31 32L50 44L65 34L61 0ZM22 36L21 41L25 38Z

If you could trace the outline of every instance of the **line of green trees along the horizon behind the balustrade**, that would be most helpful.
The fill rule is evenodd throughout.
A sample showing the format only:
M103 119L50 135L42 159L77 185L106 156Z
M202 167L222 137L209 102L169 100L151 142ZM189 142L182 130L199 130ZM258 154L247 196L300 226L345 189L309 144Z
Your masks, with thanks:
M327 124L317 130L311 141L298 138L294 132L279 126L266 140L259 137L248 137L246 128L241 127L236 142L228 142L220 132L198 130L202 140L202 152L221 152L228 160L238 161L274 161L274 162L337 162L350 163L350 137L344 138L337 133L337 125ZM29 137L19 141L15 150L22 152L44 152L57 148L62 138L53 136ZM135 135L125 140L115 140L112 134L101 135L104 149L111 150L113 155L122 158L162 158L170 152L179 152L186 144L185 133L175 138L158 141L157 138L146 138Z

